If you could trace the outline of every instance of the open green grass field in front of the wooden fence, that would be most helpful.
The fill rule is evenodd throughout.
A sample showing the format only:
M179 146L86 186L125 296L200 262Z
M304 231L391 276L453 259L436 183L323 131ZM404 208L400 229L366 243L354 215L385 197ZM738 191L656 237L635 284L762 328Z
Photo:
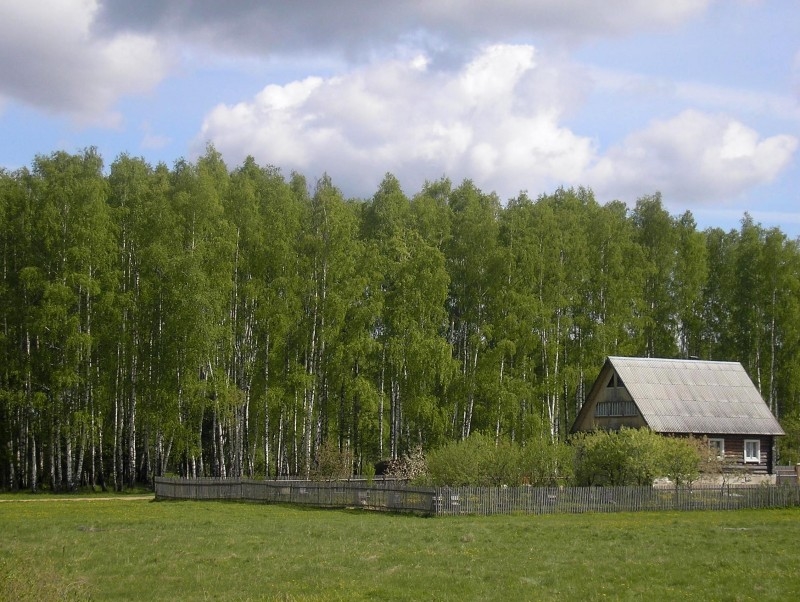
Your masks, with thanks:
M2 600L800 599L800 509L420 518L2 497Z

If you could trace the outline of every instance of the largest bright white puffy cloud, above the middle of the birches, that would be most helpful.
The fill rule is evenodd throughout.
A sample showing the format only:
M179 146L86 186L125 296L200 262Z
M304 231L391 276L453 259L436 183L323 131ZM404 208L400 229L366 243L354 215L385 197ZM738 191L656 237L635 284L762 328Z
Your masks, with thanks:
M540 68L527 45L488 46L455 72L421 56L382 62L219 105L197 147L211 141L235 161L327 171L360 195L391 171L414 186L447 175L511 196L577 180L594 156L590 139L559 124L553 88L574 96L573 80Z

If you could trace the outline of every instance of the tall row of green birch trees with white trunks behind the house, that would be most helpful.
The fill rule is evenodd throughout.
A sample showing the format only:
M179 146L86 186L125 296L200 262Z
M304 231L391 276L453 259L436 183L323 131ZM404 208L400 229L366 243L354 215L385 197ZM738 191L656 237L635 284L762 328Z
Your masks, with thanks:
M740 361L798 422L798 241L747 215L699 231L658 193L503 204L387 174L349 199L213 147L172 168L56 152L0 171L0 262L4 488L543 445L607 355Z

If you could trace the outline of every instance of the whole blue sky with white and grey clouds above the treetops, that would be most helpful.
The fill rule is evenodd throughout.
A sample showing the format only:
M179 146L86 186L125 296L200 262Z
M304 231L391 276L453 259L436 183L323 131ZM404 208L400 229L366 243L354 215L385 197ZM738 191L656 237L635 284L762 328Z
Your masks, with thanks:
M97 147L369 198L660 192L800 236L795 0L0 0L0 167Z

